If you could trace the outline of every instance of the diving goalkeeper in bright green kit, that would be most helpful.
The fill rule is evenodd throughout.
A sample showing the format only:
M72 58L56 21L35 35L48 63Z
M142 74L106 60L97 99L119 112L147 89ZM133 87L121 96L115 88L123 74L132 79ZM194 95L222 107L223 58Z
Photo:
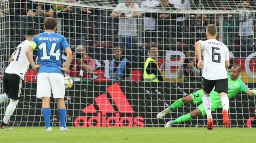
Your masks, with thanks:
M250 90L249 88L247 88L246 84L244 84L242 82L242 80L239 78L240 74L241 74L241 68L238 65L232 66L231 73L228 73L228 79L229 79L228 97L229 97L229 99L234 97L239 92L245 92L246 94L248 94L250 96L256 95L255 89ZM215 88L213 88L210 93L211 102L212 102L212 106L211 106L212 111L214 111L216 108L222 107L219 93L214 90L215 90ZM202 95L203 95L202 89L194 91L190 95L187 95L186 97L176 100L173 104L171 104L170 107L168 107L168 108L164 109L162 112L158 113L156 117L163 118L163 116L168 114L172 109L180 107L181 105L188 103L188 102L193 102L194 104L202 103ZM165 127L171 127L172 124L186 122L186 121L191 120L192 118L195 118L196 116L205 115L205 114L206 114L205 108L202 103L202 104L198 105L198 107L196 109L194 109L193 111L191 111L190 113L182 115L175 120L171 120L171 121L167 122Z

